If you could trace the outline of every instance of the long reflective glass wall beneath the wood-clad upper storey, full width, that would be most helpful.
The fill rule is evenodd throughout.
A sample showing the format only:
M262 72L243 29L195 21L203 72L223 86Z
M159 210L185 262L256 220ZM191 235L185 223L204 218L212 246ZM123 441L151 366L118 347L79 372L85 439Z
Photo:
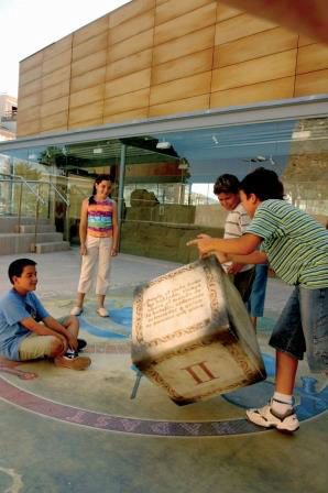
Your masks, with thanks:
M121 251L189 262L196 255L185 246L190 238L223 232L226 211L212 193L216 178L230 173L241 179L259 166L274 169L286 199L326 224L325 118L12 150L0 154L0 213L18 213L23 189L23 213L33 215L37 191L42 215L59 231L66 224L70 240L78 242L81 200L90 195L95 176L108 173L113 198L121 200ZM18 176L30 186L21 185ZM121 198L119 176L124 176Z

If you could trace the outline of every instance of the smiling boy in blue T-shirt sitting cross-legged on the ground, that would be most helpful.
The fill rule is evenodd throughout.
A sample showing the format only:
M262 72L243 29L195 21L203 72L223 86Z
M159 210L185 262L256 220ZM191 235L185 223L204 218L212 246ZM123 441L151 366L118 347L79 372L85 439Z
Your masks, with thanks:
M36 289L36 263L19 259L9 266L12 289L0 299L0 362L22 362L51 358L57 366L84 370L90 359L79 357L86 346L77 339L79 325L70 316L55 320L33 293Z

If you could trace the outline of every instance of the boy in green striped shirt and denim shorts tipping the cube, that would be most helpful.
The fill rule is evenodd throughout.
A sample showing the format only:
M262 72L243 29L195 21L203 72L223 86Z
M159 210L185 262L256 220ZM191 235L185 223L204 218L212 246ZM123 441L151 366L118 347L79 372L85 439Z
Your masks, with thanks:
M258 168L247 175L240 198L252 218L243 237L200 235L188 245L198 246L200 254L226 254L223 261L269 262L278 277L295 286L270 339L276 350L274 395L266 406L247 412L255 425L292 432L299 427L293 406L298 360L306 351L314 373L328 372L328 232L283 200L283 185L273 171Z

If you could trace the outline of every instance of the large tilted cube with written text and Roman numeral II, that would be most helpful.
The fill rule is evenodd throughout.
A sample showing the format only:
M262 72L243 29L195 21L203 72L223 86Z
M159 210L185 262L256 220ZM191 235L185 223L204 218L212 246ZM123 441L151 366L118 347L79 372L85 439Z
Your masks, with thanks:
M178 405L266 377L245 306L214 255L135 289L132 361Z

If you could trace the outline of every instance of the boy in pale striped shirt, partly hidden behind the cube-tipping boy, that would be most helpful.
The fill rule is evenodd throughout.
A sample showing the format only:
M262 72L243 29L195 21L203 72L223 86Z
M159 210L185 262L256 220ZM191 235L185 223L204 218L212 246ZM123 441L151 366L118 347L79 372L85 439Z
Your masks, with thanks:
M214 193L223 209L229 211L225 223L225 238L241 237L250 223L250 217L240 204L239 179L229 174L219 176L215 183ZM242 300L248 302L255 277L254 265L227 262L222 264L222 267L230 274Z

